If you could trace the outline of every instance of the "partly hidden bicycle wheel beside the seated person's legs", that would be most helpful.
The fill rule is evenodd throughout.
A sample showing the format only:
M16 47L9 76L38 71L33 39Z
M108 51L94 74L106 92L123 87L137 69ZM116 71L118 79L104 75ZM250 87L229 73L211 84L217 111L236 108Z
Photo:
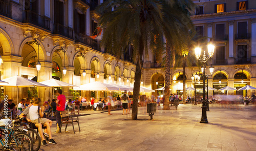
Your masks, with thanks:
M33 128L26 128L28 132L26 132L33 141L33 151L39 150L41 146L41 138L39 134Z

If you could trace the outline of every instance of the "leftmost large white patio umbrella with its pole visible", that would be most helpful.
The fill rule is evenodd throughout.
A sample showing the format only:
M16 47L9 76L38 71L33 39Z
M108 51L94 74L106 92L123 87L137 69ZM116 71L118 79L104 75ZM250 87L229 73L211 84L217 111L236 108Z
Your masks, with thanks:
M17 88L17 101L18 101L18 88L25 88L25 87L49 87L48 85L38 83L36 81L20 77L20 76L13 76L10 78L3 79L3 81L8 83L0 83L1 86L5 87L15 87ZM17 102L18 103L18 102Z

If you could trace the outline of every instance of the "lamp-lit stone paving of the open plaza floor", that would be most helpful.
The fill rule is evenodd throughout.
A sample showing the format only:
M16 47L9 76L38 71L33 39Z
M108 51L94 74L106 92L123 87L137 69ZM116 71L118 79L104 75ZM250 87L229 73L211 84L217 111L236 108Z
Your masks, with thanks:
M254 105L210 105L208 124L199 122L201 111L201 105L181 104L169 111L159 106L153 121L146 107L139 107L139 120L122 111L112 116L99 111L79 117L80 133L76 123L76 134L70 125L68 133L53 134L56 145L40 150L256 150Z

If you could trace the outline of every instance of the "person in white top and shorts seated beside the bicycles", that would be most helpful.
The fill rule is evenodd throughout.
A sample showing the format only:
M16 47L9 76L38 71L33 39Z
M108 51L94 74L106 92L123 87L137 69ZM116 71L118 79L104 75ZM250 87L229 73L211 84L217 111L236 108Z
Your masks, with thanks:
M52 139L52 132L51 132L51 126L52 126L52 121L47 119L47 118L42 118L44 116L44 106L39 107L41 104L41 99L40 98L34 98L33 99L33 105L29 109L29 115L30 115L30 120L32 123L35 124L36 127L38 127L38 133L42 138L42 145L46 146L46 140L42 132L42 126L47 127L48 135L49 135L49 143L50 144L56 144L56 142Z

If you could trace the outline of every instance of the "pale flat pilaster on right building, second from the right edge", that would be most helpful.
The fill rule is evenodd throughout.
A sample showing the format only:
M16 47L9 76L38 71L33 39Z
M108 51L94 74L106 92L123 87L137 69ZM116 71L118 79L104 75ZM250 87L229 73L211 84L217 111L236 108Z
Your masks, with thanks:
M228 64L234 64L234 20L228 26Z

